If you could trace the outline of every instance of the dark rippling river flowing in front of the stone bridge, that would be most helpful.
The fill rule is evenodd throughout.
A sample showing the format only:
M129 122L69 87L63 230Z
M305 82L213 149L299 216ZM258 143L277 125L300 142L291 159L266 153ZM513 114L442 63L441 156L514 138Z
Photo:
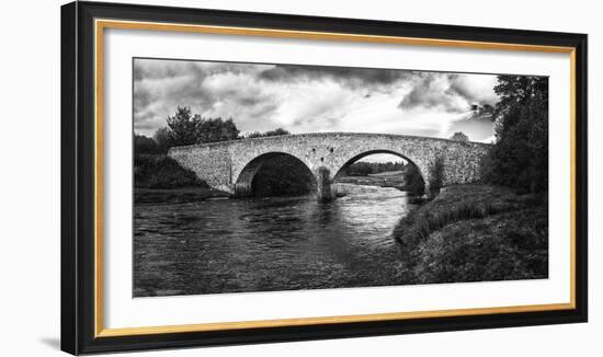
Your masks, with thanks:
M405 284L396 222L414 206L391 187L312 196L137 204L134 296Z

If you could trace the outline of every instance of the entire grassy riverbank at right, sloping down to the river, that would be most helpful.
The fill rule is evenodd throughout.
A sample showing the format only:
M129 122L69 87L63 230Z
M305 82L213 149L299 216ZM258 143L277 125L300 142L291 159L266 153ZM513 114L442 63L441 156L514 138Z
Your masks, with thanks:
M548 277L546 197L488 185L443 189L396 226L400 273L411 284Z

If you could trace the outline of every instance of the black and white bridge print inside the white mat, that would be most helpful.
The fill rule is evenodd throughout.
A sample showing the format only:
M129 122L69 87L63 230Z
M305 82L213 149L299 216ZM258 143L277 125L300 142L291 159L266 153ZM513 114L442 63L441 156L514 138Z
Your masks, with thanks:
M548 277L548 78L133 59L136 298Z

